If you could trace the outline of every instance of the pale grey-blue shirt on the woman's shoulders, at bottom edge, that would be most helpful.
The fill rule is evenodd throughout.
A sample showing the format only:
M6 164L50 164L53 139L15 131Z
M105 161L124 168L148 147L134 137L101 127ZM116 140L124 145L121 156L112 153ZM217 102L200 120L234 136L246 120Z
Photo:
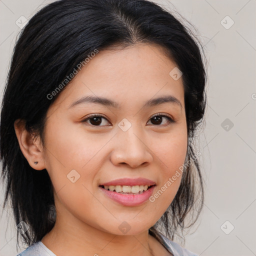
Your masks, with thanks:
M198 256L188 249L181 247L174 241L169 240L166 236L156 231L155 229L149 229L149 233L153 235L167 251L173 254L173 256ZM41 241L38 241L16 256L56 256L51 250L49 250Z

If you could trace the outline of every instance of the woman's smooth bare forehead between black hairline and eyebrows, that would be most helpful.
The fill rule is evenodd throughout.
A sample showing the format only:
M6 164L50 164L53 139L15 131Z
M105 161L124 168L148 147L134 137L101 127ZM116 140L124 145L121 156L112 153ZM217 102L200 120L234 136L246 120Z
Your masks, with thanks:
M183 102L182 77L170 76L176 64L158 45L137 44L99 50L56 99L68 108L82 96L107 97L124 102L146 102L157 95L172 95Z

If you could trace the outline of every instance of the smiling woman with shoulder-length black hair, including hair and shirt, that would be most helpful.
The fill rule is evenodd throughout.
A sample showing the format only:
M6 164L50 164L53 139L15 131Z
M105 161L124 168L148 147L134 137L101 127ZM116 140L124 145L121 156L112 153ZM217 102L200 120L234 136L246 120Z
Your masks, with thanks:
M195 255L173 237L203 203L192 139L205 82L200 43L150 1L37 12L0 123L5 202L29 245L19 255Z

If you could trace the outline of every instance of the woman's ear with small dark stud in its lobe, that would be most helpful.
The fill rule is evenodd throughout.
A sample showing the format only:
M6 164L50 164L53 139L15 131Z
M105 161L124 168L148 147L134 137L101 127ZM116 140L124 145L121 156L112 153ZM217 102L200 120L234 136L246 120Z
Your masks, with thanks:
M14 129L20 150L29 165L36 170L44 169L44 154L40 138L34 138L34 134L26 130L25 121L22 119L16 119L14 121ZM36 161L38 162L37 164L34 163Z

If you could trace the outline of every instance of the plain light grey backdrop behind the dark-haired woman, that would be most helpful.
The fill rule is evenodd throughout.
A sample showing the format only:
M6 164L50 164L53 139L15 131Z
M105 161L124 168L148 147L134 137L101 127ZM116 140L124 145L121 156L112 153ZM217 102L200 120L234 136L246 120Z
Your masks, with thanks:
M49 2L0 0L0 95L20 31L16 20L21 24L20 16L29 19ZM197 28L208 59L205 125L197 140L206 198L183 245L202 256L256 255L256 1L155 2L176 10ZM0 189L1 210L2 185ZM0 218L0 256L16 255L15 230L6 208Z

